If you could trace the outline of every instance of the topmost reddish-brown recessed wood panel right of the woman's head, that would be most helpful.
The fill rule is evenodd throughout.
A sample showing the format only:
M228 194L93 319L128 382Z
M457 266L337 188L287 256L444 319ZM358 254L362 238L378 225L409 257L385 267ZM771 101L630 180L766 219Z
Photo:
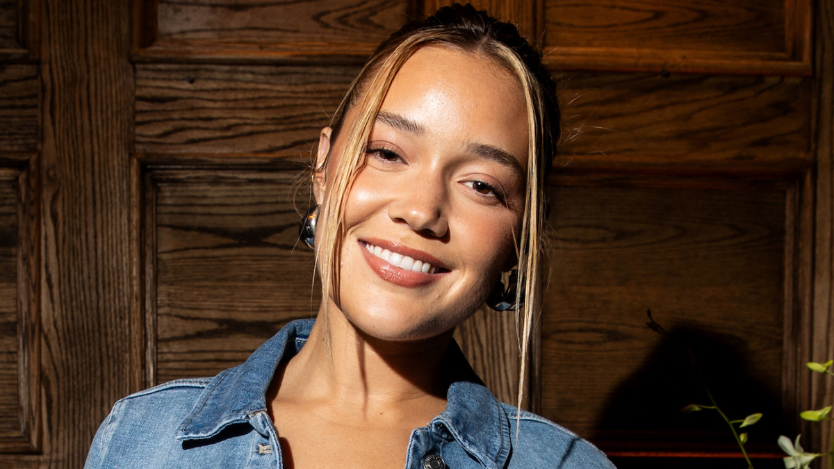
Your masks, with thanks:
M811 0L545 0L555 68L811 73Z

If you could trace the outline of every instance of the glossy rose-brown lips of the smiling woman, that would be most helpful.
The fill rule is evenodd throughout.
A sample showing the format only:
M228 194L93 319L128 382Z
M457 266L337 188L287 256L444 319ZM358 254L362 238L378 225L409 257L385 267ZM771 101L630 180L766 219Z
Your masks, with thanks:
M368 262L371 270L374 270L376 275L382 280L388 281L394 285L405 287L419 287L429 285L430 283L439 280L442 275L449 273L449 268L443 265L440 260L437 260L432 255L429 255L421 250L414 250L393 241L384 240L359 240L359 249L362 250L365 261ZM423 272L414 272L412 270L404 270L394 265L390 265L379 257L372 255L365 249L365 245L374 245L384 248L391 252L400 255L407 255L415 260L422 260L437 267L438 271L434 274L424 274Z

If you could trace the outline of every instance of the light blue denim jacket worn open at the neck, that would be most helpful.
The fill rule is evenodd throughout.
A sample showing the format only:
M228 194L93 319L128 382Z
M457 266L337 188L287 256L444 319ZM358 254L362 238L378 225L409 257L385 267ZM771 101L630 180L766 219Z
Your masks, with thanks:
M289 323L244 364L214 378L171 381L116 402L85 467L283 467L264 396L275 368L298 353L312 326ZM449 356L463 371L446 410L411 433L406 468L614 467L579 436L496 401L454 342Z

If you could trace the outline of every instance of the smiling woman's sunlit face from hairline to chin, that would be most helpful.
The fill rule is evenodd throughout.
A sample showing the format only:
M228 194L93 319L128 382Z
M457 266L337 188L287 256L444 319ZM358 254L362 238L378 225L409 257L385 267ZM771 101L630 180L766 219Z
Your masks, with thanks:
M330 149L335 159L344 139ZM354 326L383 340L426 339L483 303L515 265L527 144L525 102L504 68L437 46L404 63L345 205L340 300Z

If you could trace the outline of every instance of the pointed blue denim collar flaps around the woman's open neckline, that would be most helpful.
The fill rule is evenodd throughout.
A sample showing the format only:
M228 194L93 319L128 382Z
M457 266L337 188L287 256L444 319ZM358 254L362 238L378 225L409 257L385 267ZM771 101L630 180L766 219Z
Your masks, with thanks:
M267 340L242 365L208 381L183 420L178 440L203 440L226 426L267 410L266 391L275 369L306 343L314 320L294 320ZM455 439L483 466L502 467L510 456L510 421L499 401L472 371L452 340L446 352L452 370L445 411L429 424L435 435ZM257 426L256 426L257 428Z

